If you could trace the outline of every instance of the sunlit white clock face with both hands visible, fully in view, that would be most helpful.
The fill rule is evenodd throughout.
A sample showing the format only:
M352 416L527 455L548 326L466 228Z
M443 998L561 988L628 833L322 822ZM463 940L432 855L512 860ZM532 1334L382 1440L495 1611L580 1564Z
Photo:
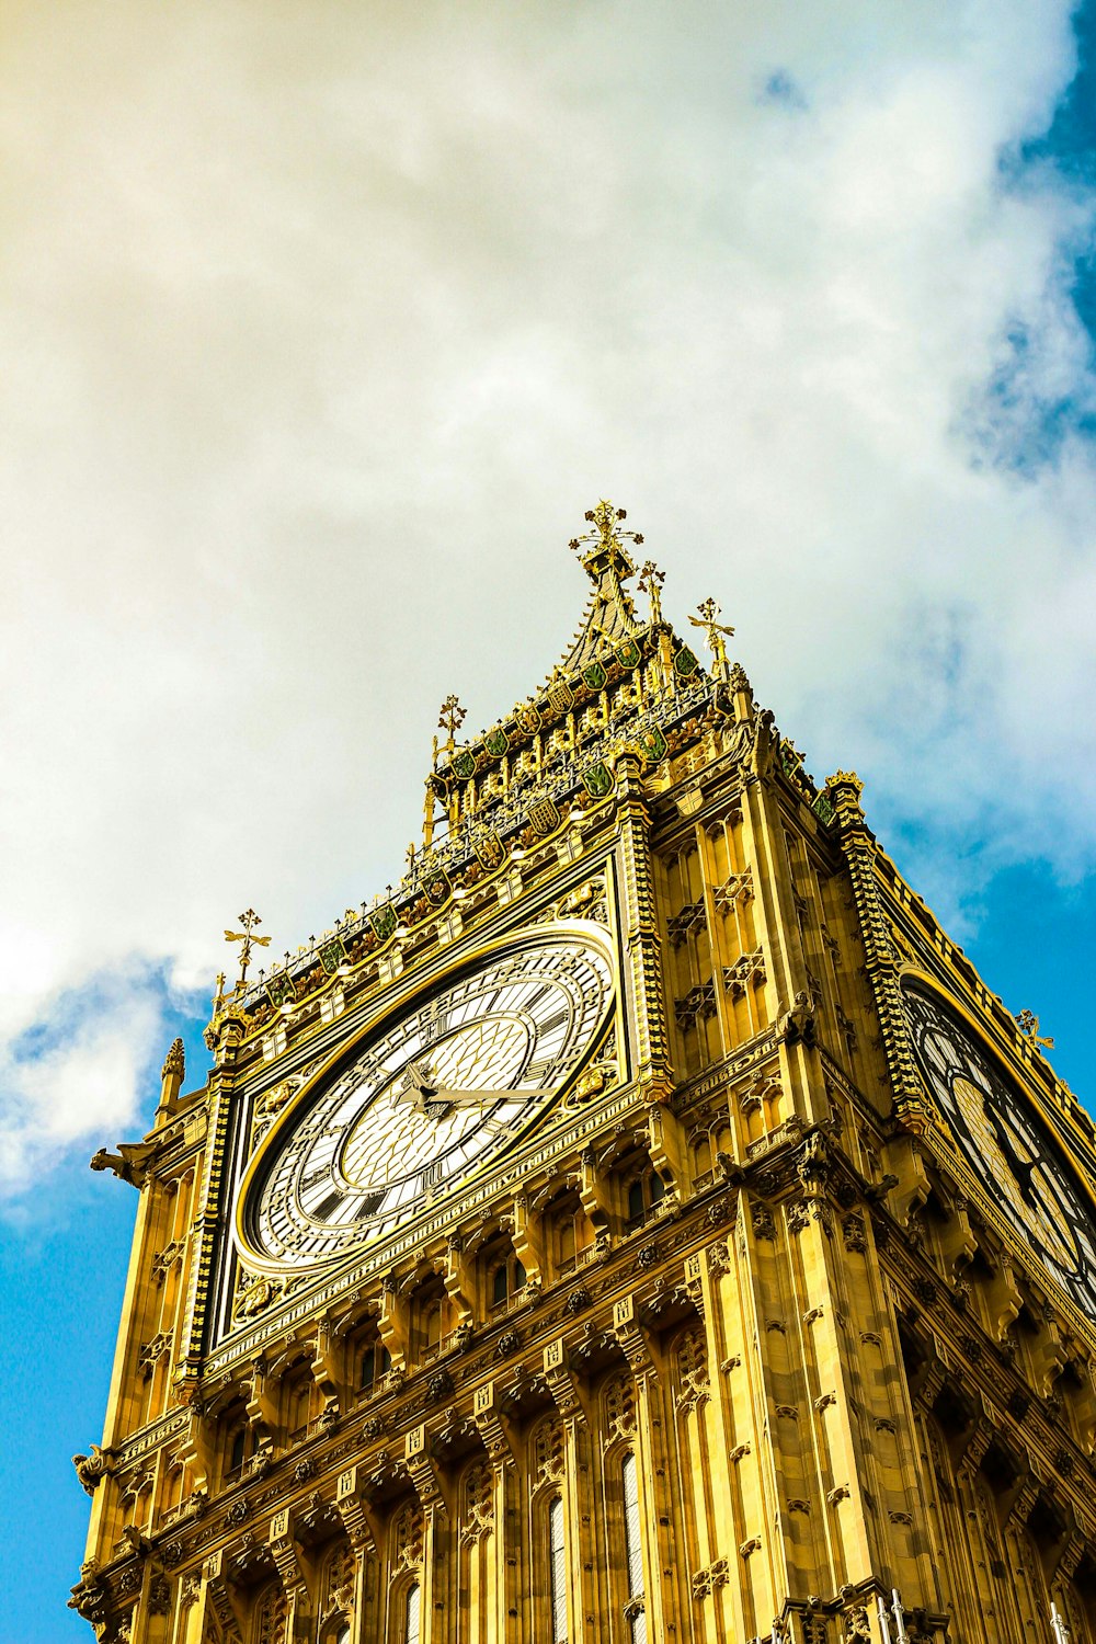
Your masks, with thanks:
M399 1006L266 1138L240 1194L248 1259L307 1268L391 1233L526 1131L611 1006L605 932L580 921L498 945Z

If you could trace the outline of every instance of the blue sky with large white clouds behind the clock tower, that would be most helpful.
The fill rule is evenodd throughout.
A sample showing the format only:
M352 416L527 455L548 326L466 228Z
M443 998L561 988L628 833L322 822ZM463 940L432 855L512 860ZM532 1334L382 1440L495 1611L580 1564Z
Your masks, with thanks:
M1091 1101L1094 58L1096 0L5 7L0 1639L90 1636L87 1157L240 911L396 878L600 496Z

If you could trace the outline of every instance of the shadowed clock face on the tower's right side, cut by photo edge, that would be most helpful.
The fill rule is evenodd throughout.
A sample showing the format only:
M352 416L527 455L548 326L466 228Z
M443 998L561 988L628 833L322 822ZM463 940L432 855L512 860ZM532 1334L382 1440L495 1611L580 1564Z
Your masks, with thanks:
M1076 1171L958 1014L914 986L904 1003L917 1062L956 1144L1052 1277L1096 1318L1091 1200Z

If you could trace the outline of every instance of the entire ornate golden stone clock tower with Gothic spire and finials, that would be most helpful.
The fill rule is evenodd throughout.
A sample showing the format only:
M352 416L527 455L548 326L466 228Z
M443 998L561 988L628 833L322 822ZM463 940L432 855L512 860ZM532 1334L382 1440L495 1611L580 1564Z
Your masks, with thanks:
M92 1161L104 1644L1096 1644L1093 1124L641 541Z

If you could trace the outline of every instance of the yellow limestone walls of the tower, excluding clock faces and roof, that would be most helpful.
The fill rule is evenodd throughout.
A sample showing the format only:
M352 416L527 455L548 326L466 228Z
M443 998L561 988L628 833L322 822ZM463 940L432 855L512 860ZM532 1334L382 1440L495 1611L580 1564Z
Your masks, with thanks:
M417 1613L434 1644L851 1644L882 1639L897 1590L910 1644L1050 1644L1052 1603L1096 1644L1091 1325L950 1174L899 975L943 965L1032 1101L1068 1097L879 853L859 784L827 794L833 824L744 684L687 756L621 761L578 870L546 847L508 909L521 926L587 873L619 939L634 1051L582 1141L509 1202L465 1217L457 1195L383 1281L283 1323L284 1297L253 1297L276 1328L215 1371L227 1113L255 1064L228 1018L207 1088L166 1074L82 1466L74 1603L100 1639L406 1644ZM500 1249L529 1277L501 1312ZM368 1342L393 1368L361 1389Z

